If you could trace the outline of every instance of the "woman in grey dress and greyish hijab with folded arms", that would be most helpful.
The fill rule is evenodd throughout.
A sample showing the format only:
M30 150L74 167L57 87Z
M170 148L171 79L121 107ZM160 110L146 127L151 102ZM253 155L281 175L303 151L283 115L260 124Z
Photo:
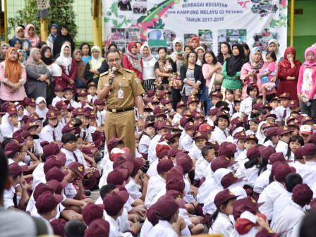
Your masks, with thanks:
M39 61L41 51L32 48L30 57L26 62L27 82L25 84L26 94L30 98L44 97L47 98L47 85L51 83L51 73L47 66Z

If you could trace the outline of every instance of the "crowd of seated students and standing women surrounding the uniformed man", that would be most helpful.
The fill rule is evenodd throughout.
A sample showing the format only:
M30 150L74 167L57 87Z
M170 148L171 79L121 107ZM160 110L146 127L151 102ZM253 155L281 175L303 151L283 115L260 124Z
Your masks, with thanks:
M104 136L102 49L75 49L56 24L46 44L34 25L10 44L0 55L0 218L25 224L1 233L316 235L315 47L301 64L293 47L282 59L275 39L266 56L226 42L215 56L197 37L175 39L158 60L130 42L122 65L145 88L134 157Z

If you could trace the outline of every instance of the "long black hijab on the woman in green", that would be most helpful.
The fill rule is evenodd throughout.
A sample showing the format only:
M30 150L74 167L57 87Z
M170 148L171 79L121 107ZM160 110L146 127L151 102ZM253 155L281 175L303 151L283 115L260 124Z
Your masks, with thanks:
M236 75L238 71L241 71L243 64L245 63L245 52L243 51L243 46L241 44L233 44L233 47L238 48L239 54L237 56L231 56L226 59L226 71L227 75ZM231 48L233 48L231 47Z

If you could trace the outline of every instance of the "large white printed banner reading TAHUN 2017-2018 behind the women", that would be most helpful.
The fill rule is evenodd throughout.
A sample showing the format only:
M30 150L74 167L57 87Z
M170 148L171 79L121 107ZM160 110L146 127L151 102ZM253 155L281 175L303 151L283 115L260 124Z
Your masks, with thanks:
M267 51L269 39L286 49L287 0L104 0L105 46L147 42L172 52L176 38L184 44L200 39L217 55L220 42L245 43Z

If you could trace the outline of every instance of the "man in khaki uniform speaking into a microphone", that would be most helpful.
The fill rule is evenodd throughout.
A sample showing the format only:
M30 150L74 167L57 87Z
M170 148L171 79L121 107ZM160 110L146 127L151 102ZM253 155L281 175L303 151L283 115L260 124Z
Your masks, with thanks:
M121 67L119 50L109 49L106 54L109 71L102 73L97 85L97 99L106 99L104 132L107 141L112 137L123 138L124 145L135 156L135 114L134 107L140 114L138 129L145 126L142 94L145 93L134 71ZM111 72L116 67L116 72Z

